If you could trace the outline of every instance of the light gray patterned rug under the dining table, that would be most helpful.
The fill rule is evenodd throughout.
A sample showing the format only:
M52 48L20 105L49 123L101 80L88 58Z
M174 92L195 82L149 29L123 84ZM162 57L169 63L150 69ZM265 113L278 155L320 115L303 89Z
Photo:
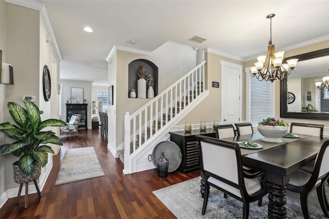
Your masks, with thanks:
M239 200L210 187L206 214L201 215L204 199L200 194L200 179L196 177L173 186L153 191L165 206L179 219L188 218L242 218L243 204ZM327 184L326 191L329 190ZM328 193L327 193L328 197ZM304 218L300 207L299 194L288 191L286 196L288 218ZM258 202L250 204L249 218L267 218L268 195L263 197L262 207ZM325 218L318 202L316 190L308 196L310 218Z

